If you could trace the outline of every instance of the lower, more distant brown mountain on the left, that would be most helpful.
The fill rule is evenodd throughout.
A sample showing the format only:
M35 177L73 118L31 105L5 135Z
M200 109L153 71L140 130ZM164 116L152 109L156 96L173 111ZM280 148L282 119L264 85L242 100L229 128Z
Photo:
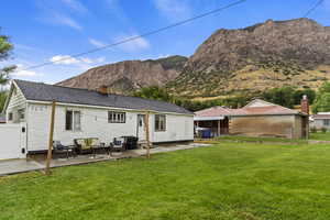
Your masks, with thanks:
M91 68L57 85L91 90L107 86L112 92L129 94L142 87L164 86L180 74L186 62L184 56L119 62Z

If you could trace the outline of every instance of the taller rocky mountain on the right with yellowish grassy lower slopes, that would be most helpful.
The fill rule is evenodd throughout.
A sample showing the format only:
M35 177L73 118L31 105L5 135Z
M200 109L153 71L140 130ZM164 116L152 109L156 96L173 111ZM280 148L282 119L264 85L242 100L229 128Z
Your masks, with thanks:
M330 28L309 19L268 20L213 33L167 88L188 97L317 89L330 79Z

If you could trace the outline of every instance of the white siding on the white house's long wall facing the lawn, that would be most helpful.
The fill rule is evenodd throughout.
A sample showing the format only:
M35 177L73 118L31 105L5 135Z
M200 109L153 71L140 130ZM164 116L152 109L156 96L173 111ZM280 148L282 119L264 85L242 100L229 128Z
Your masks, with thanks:
M46 150L51 127L51 105L29 103L28 109L28 150ZM67 109L81 112L81 131L65 130L65 113ZM125 123L108 123L108 111L127 112ZM110 108L98 109L87 107L57 106L55 110L54 140L58 140L63 144L74 144L74 139L99 138L101 142L109 144L113 141L113 138L122 135L136 136L138 114L140 113L144 112L113 110ZM152 142L194 140L193 116L166 114L166 131L155 132L154 113L151 113L150 128L150 138Z

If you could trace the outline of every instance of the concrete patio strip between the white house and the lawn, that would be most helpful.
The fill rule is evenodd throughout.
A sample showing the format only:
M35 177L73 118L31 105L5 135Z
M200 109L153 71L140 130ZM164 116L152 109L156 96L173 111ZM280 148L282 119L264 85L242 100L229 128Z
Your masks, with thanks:
M176 144L168 146L157 146L155 145L151 148L151 154L165 153L165 152L174 152L180 150L189 150L196 147L205 147L210 144L201 144L201 143L190 143L190 144ZM146 150L131 150L122 153L112 153L112 156L107 154L97 154L95 157L92 155L79 155L77 157L67 158L56 158L52 160L51 167L62 167L62 166L73 166L73 165L81 165L89 163L97 163L103 161L116 161L123 158L133 158L146 155ZM45 168L45 161L33 161L33 160L9 160L9 161L0 161L0 176L20 174L26 172L42 170Z

